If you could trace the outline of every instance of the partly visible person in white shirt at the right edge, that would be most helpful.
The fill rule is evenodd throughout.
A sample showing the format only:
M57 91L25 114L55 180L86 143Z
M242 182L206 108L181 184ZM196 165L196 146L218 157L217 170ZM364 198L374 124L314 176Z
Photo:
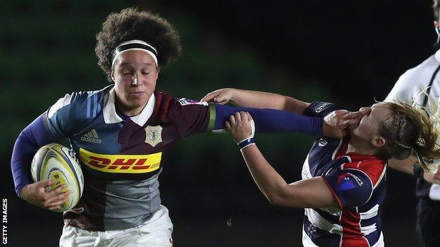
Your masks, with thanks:
M401 99L415 102L420 106L429 106L440 97L440 1L434 0L434 29L438 35L434 55L429 56L415 68L407 70L398 79L386 101ZM440 246L440 170L427 173L417 164L417 158L407 160L390 160L391 168L414 175L417 179L415 193L417 196L417 234L426 247Z

